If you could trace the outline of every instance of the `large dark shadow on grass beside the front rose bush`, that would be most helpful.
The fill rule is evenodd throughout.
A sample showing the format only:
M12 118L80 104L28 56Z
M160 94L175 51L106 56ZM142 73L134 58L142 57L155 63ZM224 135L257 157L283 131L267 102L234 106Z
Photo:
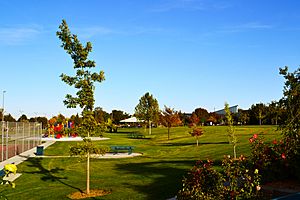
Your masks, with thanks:
M192 167L194 164L194 160L126 163L117 164L116 170L122 174L141 177L136 183L122 182L122 187L132 188L137 193L146 195L146 200L165 200L174 197L181 188L182 178L187 173L183 166ZM140 184L141 181L144 184Z

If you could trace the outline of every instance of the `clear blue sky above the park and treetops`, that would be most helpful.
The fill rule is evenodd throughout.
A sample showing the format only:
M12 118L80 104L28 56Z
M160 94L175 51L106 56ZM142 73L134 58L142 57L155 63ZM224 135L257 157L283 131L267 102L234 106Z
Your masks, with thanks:
M74 73L56 36L62 19L104 70L95 106L133 114L150 92L192 112L248 109L282 97L279 67L300 63L297 0L2 0L0 90L18 118L80 113L63 105ZM1 106L2 107L2 92Z

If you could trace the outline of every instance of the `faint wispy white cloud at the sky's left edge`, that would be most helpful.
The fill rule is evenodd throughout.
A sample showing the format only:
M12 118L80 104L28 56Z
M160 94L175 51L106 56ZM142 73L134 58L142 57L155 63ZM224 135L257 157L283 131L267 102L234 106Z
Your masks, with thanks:
M22 45L31 41L40 33L41 28L36 25L0 28L0 44Z

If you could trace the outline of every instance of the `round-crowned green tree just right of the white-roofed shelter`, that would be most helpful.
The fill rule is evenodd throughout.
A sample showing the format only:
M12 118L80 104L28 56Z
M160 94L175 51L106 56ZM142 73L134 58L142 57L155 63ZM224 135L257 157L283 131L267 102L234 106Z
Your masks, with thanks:
M159 118L158 101L147 92L140 98L139 104L135 107L135 114L137 118L143 119L149 124L149 135L151 135L151 123L156 122Z

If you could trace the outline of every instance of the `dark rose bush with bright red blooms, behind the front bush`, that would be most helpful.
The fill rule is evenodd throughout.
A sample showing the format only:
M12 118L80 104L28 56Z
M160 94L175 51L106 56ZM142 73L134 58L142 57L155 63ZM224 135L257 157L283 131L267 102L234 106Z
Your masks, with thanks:
M273 140L272 143L265 143L264 138L256 134L249 141L251 162L263 174L263 181L283 179L289 175L286 142Z

